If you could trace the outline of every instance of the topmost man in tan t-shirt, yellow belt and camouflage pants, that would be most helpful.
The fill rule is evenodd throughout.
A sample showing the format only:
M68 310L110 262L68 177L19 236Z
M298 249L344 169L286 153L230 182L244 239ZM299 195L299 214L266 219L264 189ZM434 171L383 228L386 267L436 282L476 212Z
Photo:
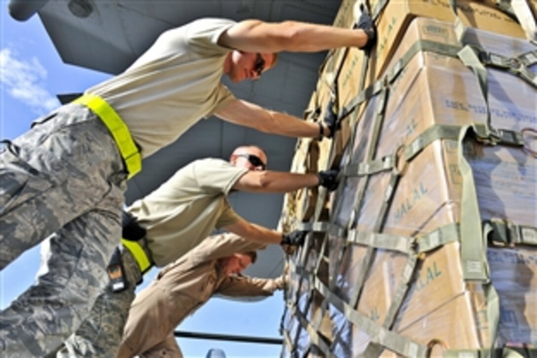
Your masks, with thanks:
M106 284L127 175L200 118L215 114L292 137L335 130L234 98L220 83L224 73L235 82L255 79L276 52L363 47L372 39L372 32L295 22L197 20L164 32L124 73L8 141L0 153L0 269L57 234L47 273L20 297L31 304L0 315L0 353L40 356L76 330ZM78 291L54 300L66 287Z

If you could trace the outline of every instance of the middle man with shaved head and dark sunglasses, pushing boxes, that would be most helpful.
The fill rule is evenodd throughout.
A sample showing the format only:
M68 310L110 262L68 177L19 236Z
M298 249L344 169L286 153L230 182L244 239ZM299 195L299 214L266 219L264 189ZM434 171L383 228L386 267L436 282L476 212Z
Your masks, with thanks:
M267 171L264 170L266 163L267 157L262 149L256 146L238 147L231 154L229 162L211 158L194 161L178 170L151 194L134 202L128 208L128 213L136 218L147 234L139 242L122 241L128 247L121 247L122 267L128 288L122 292L113 292L112 287L103 289L90 317L65 342L62 354L69 353L77 357L113 355L119 347L136 284L148 269L147 265L144 266L144 261L163 267L198 245L214 228L224 228L260 244L300 244L304 235L302 232L282 235L239 217L229 205L227 195L231 190L287 192L318 184L333 189L337 177L333 171L318 175ZM131 235L130 232L124 232L124 237L131 238ZM136 256L137 249L144 253L143 257ZM49 259L49 264L54 265L55 261ZM87 272L86 277L98 273L100 271ZM39 286L40 284L34 286L34 290L39 291ZM73 304L71 297L77 295L78 289L76 282L66 284L63 291L47 303L66 300ZM23 295L11 307L28 304ZM9 310L13 310L11 307ZM9 314L9 310L2 312L2 315ZM66 312L61 305L57 305L48 307L47 314L65 319L69 311ZM35 320L32 316L28 318ZM60 326L56 332L61 329ZM25 326L10 327L14 337L24 336L26 330ZM43 347L48 347L45 354L58 345L53 345L56 335L35 338Z

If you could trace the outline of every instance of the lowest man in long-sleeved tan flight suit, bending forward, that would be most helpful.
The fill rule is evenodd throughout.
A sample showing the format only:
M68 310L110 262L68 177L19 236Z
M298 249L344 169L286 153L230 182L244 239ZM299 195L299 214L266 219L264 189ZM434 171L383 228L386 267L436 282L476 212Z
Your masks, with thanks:
M207 302L224 296L270 296L276 279L236 276L256 260L255 242L235 234L213 235L164 267L130 307L118 357L182 357L173 330Z

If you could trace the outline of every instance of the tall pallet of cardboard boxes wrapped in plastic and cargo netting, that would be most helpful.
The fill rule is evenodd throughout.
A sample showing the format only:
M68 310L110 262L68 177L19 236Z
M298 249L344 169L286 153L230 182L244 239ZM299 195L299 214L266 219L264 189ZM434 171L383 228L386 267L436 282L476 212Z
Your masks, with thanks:
M360 11L376 47L330 52L305 113L341 130L293 160L341 180L284 201L311 233L282 356L537 356L535 3L344 0L335 25Z

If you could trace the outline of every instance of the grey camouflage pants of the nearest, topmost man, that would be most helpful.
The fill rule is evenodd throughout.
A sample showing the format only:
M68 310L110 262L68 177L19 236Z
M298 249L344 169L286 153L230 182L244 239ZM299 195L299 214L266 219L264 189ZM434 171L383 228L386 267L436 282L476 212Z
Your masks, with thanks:
M0 269L50 239L45 273L0 312L0 356L43 356L88 314L121 235L126 174L81 105L43 118L0 153Z

